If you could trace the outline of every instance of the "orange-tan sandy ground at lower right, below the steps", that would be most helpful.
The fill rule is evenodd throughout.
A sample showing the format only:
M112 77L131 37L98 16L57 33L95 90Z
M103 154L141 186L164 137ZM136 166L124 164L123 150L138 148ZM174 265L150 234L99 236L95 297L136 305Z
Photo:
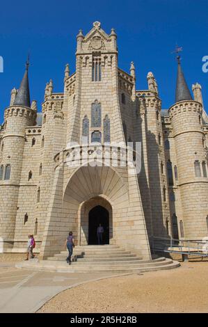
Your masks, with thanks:
M38 312L208 312L208 260L67 289Z

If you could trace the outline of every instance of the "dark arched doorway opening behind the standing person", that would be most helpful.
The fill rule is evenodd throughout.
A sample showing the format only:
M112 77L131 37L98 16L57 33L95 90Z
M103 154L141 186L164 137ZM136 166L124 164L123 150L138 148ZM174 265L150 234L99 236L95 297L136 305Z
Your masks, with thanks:
M98 244L97 227L104 228L102 244L109 244L109 212L101 205L97 205L89 212L88 244Z

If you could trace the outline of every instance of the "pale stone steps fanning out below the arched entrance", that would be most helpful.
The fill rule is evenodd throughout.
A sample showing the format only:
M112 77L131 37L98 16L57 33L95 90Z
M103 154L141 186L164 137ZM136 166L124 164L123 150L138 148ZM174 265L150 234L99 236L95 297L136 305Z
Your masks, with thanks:
M67 251L63 251L47 260L31 259L19 262L17 268L38 271L57 271L68 273L138 273L142 271L157 271L173 269L179 262L159 257L153 260L143 260L119 246L76 246L72 255L72 264L66 262Z

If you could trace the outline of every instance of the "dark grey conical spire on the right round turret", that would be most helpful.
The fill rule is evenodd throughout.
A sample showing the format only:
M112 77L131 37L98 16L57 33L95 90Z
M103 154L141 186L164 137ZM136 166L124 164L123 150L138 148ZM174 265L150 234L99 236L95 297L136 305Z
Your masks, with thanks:
M192 97L182 72L180 56L177 56L177 84L175 91L175 102L184 100L192 100Z

